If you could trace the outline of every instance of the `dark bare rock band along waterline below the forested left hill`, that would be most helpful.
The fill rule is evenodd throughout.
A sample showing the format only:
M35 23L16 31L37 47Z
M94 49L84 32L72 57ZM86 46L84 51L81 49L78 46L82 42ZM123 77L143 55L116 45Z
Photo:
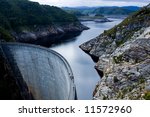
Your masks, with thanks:
M34 43L38 45L49 46L51 44L62 41L63 37L75 36L88 27L77 23L59 26L34 26L30 30L22 30L20 32L12 32L17 42ZM47 44L47 45L46 45Z

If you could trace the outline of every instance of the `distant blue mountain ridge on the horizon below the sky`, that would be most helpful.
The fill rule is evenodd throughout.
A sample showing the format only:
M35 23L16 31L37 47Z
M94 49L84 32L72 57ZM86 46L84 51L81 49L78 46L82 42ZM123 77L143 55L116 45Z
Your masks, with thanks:
M129 15L140 9L138 6L99 6L99 7L62 7L62 9L70 11L78 11L81 14L101 14L101 15Z

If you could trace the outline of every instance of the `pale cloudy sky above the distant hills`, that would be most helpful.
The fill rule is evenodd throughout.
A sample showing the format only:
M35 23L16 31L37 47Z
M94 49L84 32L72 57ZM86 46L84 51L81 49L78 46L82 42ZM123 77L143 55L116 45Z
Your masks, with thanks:
M58 7L76 6L145 6L150 0L30 0Z

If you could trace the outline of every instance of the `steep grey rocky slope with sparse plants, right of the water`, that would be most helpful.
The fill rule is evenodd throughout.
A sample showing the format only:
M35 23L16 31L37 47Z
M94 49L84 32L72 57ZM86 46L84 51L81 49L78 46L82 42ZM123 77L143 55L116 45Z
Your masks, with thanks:
M97 58L94 99L150 99L149 5L80 47Z

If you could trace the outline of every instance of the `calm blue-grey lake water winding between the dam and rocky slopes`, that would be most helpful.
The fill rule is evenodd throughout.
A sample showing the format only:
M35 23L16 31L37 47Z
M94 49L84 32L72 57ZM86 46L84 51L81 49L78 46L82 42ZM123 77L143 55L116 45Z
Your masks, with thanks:
M69 39L68 41L55 45L51 49L63 55L69 62L75 77L75 84L79 100L92 99L95 85L100 80L96 70L95 63L91 57L84 53L79 45L95 38L104 30L107 30L122 21L122 19L112 19L113 22L96 23L94 21L82 22L89 30L83 31L79 36ZM71 41L70 41L71 40Z

